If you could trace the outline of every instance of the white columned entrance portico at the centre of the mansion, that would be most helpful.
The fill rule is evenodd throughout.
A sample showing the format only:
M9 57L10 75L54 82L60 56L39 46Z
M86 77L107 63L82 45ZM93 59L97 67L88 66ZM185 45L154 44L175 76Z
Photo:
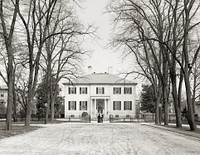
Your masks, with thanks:
M110 110L110 96L91 96L90 97L90 115L96 118L99 112L103 112L104 118L108 117Z

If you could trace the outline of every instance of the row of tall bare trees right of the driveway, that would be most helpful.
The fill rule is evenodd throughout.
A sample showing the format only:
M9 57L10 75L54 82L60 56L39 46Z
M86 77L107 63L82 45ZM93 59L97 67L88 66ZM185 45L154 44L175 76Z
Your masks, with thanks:
M118 31L113 45L123 46L127 56L135 56L139 71L130 73L146 77L153 86L156 124L160 124L161 103L164 124L168 125L172 95L176 126L182 127L181 98L185 90L188 124L191 130L197 129L194 102L199 85L199 7L199 0L114 0L108 7Z

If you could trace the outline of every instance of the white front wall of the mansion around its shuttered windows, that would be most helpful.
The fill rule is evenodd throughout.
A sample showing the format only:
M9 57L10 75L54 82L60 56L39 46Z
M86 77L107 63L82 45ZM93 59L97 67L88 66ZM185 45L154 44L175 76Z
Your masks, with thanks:
M107 117L109 115L119 115L119 117L125 117L126 115L135 116L136 102L135 102L135 85L78 85L76 86L76 94L69 94L68 87L65 86L65 117L74 115L80 117L83 112L91 114L91 103L94 98L107 97L108 109ZM80 87L87 87L87 94L80 94ZM96 87L104 87L104 94L96 94ZM121 87L121 94L113 94L114 87ZM124 94L124 87L132 87L132 94ZM68 101L76 101L76 110L68 110ZM87 101L87 110L79 110L79 101ZM121 101L121 110L113 110L113 101ZM132 110L124 110L124 101L132 101Z

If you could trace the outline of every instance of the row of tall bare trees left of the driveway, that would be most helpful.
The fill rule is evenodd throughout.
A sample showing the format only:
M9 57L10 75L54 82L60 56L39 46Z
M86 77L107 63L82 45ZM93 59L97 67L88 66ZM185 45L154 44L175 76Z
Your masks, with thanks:
M77 75L86 53L80 44L91 29L80 24L72 3L75 1L0 0L0 54L5 68L0 75L8 86L7 130L12 128L16 96L25 108L25 126L30 126L41 75L46 75L47 83L46 120L50 109L54 119L53 87L62 78Z

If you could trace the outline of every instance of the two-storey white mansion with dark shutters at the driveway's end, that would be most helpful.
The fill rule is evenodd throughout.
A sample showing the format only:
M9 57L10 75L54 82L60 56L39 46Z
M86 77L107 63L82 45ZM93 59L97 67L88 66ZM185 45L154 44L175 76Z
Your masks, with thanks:
M77 78L65 86L65 117L81 117L87 112L95 119L98 112L135 117L135 86L137 84L113 74L93 73Z

